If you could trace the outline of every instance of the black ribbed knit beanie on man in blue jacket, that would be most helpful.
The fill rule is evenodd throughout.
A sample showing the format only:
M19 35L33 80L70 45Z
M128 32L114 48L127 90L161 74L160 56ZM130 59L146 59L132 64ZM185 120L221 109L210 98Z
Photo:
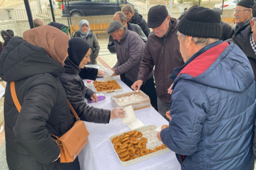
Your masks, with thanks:
M218 12L202 6L189 9L178 23L178 31L192 37L220 38L221 16Z

